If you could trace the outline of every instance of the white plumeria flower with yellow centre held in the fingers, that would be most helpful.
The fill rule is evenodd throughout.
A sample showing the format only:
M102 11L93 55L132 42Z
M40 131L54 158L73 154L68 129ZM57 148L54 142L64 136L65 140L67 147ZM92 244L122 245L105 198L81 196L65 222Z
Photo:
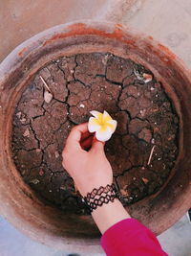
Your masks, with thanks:
M104 110L103 114L93 110L90 112L94 117L90 117L88 129L90 132L96 132L96 139L99 141L107 141L117 128L117 121Z

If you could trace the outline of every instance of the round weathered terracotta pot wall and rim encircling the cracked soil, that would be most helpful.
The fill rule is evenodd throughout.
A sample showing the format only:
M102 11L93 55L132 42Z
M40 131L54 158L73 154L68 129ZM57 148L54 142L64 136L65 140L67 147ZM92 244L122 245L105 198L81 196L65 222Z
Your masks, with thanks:
M0 211L14 226L41 243L62 249L98 252L100 234L91 217L66 215L40 201L11 159L11 119L25 86L46 62L79 53L110 52L150 69L165 87L180 117L179 157L156 195L128 208L161 233L191 206L191 79L180 60L151 36L118 24L82 21L56 26L18 46L0 65Z

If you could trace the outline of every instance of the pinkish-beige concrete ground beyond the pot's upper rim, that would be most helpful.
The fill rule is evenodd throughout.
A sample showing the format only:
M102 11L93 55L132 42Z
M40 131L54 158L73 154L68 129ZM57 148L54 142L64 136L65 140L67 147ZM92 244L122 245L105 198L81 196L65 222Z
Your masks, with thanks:
M152 35L191 68L190 0L1 0L0 61L32 35L83 18L122 23Z

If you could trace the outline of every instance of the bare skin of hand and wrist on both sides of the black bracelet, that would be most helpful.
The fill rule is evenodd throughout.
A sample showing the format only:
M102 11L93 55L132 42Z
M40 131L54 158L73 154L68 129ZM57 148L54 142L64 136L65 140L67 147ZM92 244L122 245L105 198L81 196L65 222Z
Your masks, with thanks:
M62 156L63 167L74 178L82 197L94 188L112 184L113 172L105 156L104 143L88 131L88 123L72 129ZM130 218L117 198L97 207L92 216L102 234L118 221Z

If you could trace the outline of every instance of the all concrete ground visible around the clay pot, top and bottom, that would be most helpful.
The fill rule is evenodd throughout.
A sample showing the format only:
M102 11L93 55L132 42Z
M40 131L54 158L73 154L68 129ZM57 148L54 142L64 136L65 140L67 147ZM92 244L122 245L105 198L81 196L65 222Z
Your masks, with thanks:
M190 0L1 0L0 61L32 35L82 18L114 21L152 35L191 69ZM1 256L65 256L72 253L32 242L3 218L0 230ZM191 255L191 225L186 217L160 235L159 241L170 255Z

